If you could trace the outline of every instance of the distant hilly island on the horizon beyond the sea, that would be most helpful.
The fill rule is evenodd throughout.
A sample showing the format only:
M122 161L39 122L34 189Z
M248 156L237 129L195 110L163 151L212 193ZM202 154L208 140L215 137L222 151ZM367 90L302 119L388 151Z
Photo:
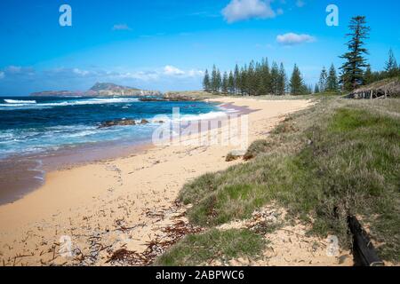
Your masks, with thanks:
M39 91L30 94L31 97L148 97L161 95L160 91L140 90L115 83L95 83L88 91Z

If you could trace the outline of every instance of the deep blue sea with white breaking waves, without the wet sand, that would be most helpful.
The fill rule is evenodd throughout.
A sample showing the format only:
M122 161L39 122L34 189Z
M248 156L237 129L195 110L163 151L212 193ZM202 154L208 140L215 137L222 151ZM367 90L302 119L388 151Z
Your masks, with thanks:
M212 117L221 111L205 102L141 102L138 98L0 98L0 160L13 155L37 154L63 147L98 142L149 141L159 126L153 119L172 108L193 119ZM99 128L101 122L146 119L135 126Z

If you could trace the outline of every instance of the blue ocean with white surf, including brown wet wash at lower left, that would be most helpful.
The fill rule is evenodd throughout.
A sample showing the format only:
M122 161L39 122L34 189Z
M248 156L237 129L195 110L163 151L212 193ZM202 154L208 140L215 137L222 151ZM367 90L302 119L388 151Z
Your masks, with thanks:
M104 146L135 146L151 141L160 126L156 115L172 108L196 120L221 114L206 102L140 101L139 98L0 98L0 204L19 199L44 182L44 161ZM142 119L144 125L101 128L107 121ZM104 152L100 150L100 152ZM98 155L93 155L98 157ZM88 158L89 159L89 158ZM49 167L48 167L49 168ZM35 181L35 182L34 182Z

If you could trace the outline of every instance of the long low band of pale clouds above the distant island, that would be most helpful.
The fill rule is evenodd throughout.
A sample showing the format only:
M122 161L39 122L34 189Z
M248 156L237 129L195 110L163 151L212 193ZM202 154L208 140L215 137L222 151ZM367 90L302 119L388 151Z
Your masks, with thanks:
M24 93L43 90L82 91L95 82L110 82L149 90L165 90L166 86L174 86L172 89L175 90L177 86L200 86L203 75L203 71L195 68L180 69L172 65L141 70L124 67L53 67L40 70L32 67L6 67L0 70L2 84L9 83L9 88ZM3 81L3 78L7 80Z

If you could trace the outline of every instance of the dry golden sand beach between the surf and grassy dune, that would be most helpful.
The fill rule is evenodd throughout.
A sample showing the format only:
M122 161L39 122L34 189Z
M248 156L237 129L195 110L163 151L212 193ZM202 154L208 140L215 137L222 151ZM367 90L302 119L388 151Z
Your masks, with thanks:
M311 104L306 100L218 101L252 110L250 143L265 138L286 114ZM206 172L243 162L225 161L228 152L235 149L148 146L124 157L48 172L38 190L0 207L0 265L107 265L118 249L140 253L152 241L168 237L165 227L187 222L185 208L175 203L182 185ZM305 240L308 237L303 229ZM303 265L338 264L335 257L324 255L324 248L310 252L307 243L315 241L312 238L299 241L304 243L304 251L291 250L284 241L291 234L283 232L275 236L281 248L268 256L269 264L296 264L294 260L301 257L307 261ZM299 233L295 236L300 238ZM60 255L60 238L66 237L72 241L73 256Z

